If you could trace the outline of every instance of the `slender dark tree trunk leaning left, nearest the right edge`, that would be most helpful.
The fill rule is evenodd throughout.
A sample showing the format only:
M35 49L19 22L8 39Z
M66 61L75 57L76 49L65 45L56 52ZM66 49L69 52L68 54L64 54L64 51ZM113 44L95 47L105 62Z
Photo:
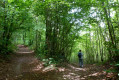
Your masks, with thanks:
M113 28L113 25L112 25L112 22L111 22L111 19L110 19L110 9L109 9L108 0L107 0L107 8L108 9L106 9L104 2L102 3L102 5L103 5L104 13L106 15L105 17L106 17L108 30L109 30L109 37L110 37L110 40L111 40L111 44L109 44L109 46L110 46L110 48L117 50L115 32L114 32L114 28ZM114 52L114 51L112 51L112 49L111 50L108 49L109 54L110 54L110 59L112 59L112 56L114 56L115 53L118 54L118 51ZM114 53L114 54L112 54L112 53Z

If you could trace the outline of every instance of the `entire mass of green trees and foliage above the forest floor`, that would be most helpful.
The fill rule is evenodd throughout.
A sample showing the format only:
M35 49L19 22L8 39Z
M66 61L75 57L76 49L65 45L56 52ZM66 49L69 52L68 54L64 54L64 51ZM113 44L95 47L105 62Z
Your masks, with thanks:
M118 1L1 0L0 54L24 44L43 58L88 63L118 61Z

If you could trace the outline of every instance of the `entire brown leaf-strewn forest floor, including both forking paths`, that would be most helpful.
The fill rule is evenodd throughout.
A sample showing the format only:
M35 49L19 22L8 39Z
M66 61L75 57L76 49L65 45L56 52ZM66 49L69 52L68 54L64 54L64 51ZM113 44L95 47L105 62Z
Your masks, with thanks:
M10 62L0 63L0 80L105 80L108 66L87 64L84 68L64 63L59 67L43 66L34 52L23 45Z

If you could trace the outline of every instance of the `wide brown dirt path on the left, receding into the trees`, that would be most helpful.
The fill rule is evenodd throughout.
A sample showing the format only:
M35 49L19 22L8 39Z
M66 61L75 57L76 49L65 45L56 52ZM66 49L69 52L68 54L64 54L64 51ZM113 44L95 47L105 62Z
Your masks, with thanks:
M0 76L0 80L62 80L55 68L44 67L34 51L24 45L18 45L18 51L13 56L8 76Z

